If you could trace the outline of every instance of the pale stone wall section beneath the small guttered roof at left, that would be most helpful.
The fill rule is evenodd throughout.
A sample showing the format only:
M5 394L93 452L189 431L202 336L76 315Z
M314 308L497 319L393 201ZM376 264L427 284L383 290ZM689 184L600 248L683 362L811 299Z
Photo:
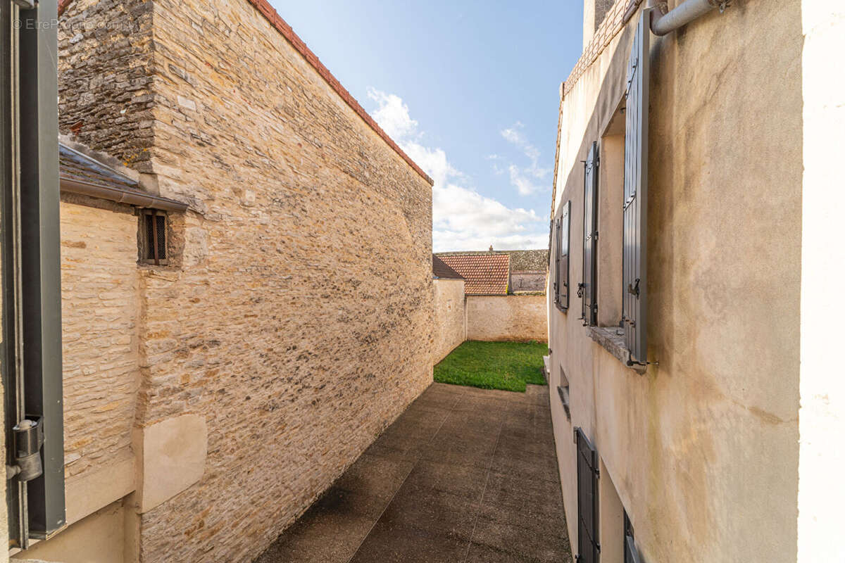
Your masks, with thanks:
M139 387L138 218L62 202L65 474L128 455Z

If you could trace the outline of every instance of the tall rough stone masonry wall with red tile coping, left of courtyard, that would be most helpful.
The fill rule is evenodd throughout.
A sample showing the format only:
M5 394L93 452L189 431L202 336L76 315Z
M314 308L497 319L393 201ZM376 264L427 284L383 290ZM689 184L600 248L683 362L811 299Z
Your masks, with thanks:
M207 458L135 516L144 563L252 560L432 380L428 178L279 21L248 0L61 20L63 133L190 204L169 265L137 266L134 425L199 414Z

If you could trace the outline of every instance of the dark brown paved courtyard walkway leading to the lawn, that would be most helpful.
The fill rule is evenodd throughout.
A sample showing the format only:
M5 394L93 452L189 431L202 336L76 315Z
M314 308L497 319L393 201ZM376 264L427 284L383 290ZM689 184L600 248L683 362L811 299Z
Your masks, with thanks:
M571 560L548 387L434 383L256 563Z

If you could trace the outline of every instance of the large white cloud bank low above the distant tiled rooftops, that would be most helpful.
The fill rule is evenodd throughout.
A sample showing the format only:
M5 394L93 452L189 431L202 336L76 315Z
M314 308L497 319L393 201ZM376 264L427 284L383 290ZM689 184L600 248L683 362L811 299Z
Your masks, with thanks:
M467 176L450 165L445 151L423 144L418 123L399 96L373 88L367 95L378 105L373 119L434 181L434 252L548 246L548 222L533 209L508 208L466 187ZM499 160L495 154L487 158Z

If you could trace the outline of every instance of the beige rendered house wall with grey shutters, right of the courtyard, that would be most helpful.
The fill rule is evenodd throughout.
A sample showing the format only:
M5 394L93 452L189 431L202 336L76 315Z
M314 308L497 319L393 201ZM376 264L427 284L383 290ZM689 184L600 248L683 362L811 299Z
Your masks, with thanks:
M583 232L579 160L623 99L638 18L562 102L554 210L572 202L573 234ZM651 42L648 355L659 365L645 375L626 368L589 338L577 297L568 313L548 297L549 391L570 539L577 553L572 428L581 426L644 560L794 561L800 5L752 0ZM573 240L576 283L582 254ZM571 421L555 390L559 366Z

